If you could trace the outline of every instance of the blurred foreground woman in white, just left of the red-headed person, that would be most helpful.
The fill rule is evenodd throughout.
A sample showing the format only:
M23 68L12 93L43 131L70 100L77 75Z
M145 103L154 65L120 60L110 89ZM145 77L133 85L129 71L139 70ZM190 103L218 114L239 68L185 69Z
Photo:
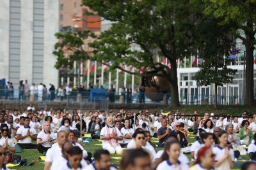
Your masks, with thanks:
M180 155L180 143L179 141L172 141L166 143L164 146L164 152L167 153L168 157L162 157L163 162L158 164L157 170L162 169L174 169L174 170L187 170L188 164L182 164L179 161Z

